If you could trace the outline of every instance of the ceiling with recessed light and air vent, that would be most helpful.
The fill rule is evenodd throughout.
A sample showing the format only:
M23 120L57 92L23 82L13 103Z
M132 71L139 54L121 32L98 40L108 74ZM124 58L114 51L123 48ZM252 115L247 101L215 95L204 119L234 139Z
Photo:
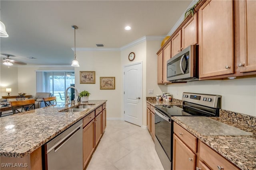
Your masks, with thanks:
M77 48L120 48L145 35L167 35L192 0L1 0L9 35L1 54L28 65L70 65ZM126 31L124 27L132 29ZM1 60L4 58L1 55ZM28 59L34 57L36 59Z

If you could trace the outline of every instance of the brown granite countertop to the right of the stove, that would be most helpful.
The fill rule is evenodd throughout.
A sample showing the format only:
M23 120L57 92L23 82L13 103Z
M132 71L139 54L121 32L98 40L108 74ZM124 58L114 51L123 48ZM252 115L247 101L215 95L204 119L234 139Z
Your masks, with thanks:
M242 170L256 169L256 129L223 117L174 116L176 123ZM218 123L224 123L220 125ZM238 128L228 128L227 125ZM207 128L206 128L207 127ZM223 129L225 127L225 129ZM214 130L215 129L215 130ZM231 130L230 130L231 129ZM242 132L243 130L245 132ZM215 132L212 132L215 131ZM249 132L249 133L248 133ZM227 135L232 134L232 135Z

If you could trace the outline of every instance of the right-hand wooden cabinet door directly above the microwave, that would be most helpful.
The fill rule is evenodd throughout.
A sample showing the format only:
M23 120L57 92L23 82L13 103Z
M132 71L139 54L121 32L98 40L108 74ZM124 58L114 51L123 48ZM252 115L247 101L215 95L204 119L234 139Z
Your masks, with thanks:
M197 44L197 13L182 27L182 49Z

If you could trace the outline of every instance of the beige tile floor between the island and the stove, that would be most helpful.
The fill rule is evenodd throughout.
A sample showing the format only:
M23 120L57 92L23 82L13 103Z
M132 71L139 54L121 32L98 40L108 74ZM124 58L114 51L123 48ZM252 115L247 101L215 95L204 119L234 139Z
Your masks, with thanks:
M108 120L87 170L164 170L147 129Z

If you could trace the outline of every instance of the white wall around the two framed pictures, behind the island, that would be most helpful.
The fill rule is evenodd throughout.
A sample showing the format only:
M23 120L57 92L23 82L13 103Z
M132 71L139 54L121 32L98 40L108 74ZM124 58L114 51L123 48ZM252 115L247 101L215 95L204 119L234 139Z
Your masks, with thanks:
M120 51L78 51L76 59L80 67L75 67L75 84L79 91L91 93L89 100L108 100L107 118L121 118L122 69ZM95 84L80 84L80 71L95 71ZM100 77L115 77L115 90L100 90Z

